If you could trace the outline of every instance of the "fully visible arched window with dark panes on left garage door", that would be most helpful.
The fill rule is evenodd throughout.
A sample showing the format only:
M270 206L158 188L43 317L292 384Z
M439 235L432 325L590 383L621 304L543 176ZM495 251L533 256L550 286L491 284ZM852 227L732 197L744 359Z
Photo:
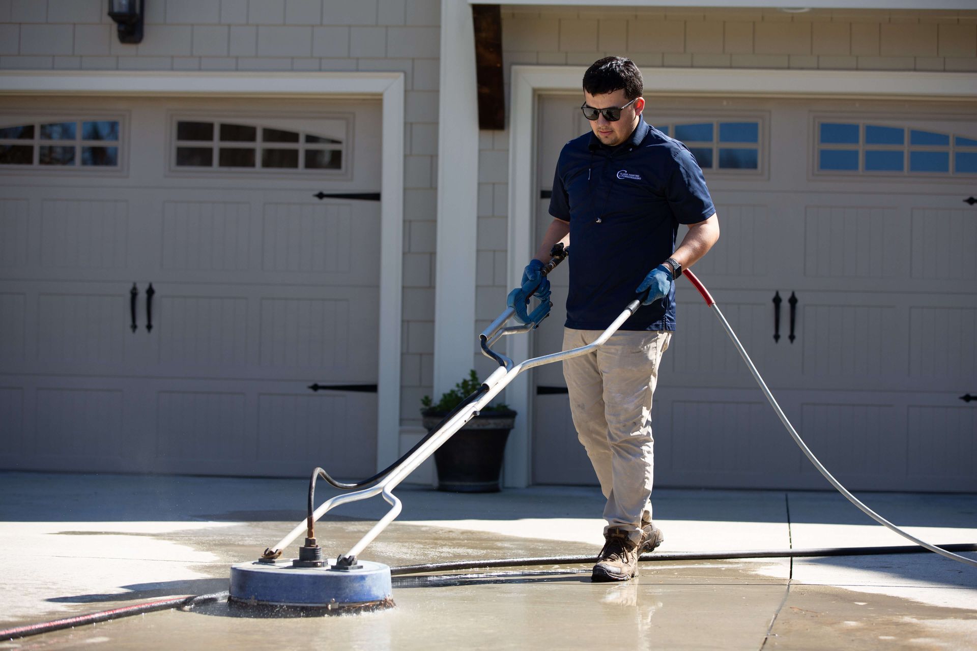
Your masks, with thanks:
M341 172L344 159L343 140L323 134L224 121L176 121L176 169Z

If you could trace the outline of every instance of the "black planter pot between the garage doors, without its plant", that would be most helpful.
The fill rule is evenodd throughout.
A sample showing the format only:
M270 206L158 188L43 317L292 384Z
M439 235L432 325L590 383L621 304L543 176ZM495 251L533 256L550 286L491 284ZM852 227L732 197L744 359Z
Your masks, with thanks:
M446 413L425 413L423 424L429 430ZM480 414L454 433L434 453L438 468L438 490L454 493L495 493L509 430L516 412L492 411Z

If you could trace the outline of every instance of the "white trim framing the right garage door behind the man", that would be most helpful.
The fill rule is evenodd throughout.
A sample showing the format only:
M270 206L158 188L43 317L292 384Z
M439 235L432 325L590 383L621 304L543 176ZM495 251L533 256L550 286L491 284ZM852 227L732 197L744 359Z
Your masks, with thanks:
M509 122L509 286L522 278L531 258L533 242L532 188L535 186L533 156L535 96L538 92L580 90L585 67L513 65L512 103ZM751 70L711 68L646 68L646 88L661 95L752 96L767 98L865 97L903 100L973 100L977 98L977 74L970 72L855 72L828 70ZM551 325L552 327L552 325ZM509 355L523 359L529 354L528 338L514 337ZM507 484L527 486L531 481L532 423L531 385L522 375L506 390L506 402L520 413L512 431L513 450L506 459Z

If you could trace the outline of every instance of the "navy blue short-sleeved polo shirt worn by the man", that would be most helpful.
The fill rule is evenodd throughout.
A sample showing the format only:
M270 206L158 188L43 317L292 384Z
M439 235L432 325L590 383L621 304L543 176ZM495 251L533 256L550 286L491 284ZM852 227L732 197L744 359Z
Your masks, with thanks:
M616 147L593 133L567 142L549 213L570 223L567 327L604 330L636 298L648 272L675 251L679 224L715 213L696 159L682 143L638 121ZM674 330L675 286L621 330Z

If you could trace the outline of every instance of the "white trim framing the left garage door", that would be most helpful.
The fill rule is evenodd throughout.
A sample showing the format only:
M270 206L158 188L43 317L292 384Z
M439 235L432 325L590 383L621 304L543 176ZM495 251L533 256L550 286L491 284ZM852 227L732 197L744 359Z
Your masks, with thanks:
M377 378L377 468L400 451L401 297L404 239L403 72L48 72L0 73L0 95L183 97L351 97L383 102L380 180L380 350Z

